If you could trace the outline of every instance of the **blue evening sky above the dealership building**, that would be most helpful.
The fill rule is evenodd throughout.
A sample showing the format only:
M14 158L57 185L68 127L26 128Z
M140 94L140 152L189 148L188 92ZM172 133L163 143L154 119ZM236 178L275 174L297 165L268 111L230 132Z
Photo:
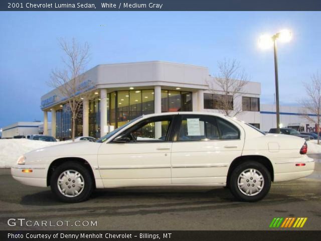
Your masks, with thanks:
M61 66L57 39L91 46L97 64L163 60L206 66L237 59L261 82L261 103L274 102L273 50L258 48L262 33L291 29L279 44L280 103L296 104L303 81L321 71L320 12L2 12L0 15L0 128L42 121L41 95Z

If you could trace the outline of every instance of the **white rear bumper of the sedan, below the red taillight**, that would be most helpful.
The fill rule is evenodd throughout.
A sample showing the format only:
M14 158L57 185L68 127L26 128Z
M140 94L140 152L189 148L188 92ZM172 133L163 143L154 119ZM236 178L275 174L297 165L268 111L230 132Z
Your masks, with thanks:
M311 175L314 171L314 160L302 155L298 158L276 158L272 160L274 168L274 182L295 180ZM295 164L303 163L304 166Z

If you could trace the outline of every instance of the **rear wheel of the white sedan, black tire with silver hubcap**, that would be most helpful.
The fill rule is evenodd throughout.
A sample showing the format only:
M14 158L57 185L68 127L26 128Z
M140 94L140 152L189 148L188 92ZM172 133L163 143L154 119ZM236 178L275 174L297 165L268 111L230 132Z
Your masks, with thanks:
M244 162L238 165L230 176L229 188L234 197L240 201L259 201L266 196L270 187L271 174L258 162Z

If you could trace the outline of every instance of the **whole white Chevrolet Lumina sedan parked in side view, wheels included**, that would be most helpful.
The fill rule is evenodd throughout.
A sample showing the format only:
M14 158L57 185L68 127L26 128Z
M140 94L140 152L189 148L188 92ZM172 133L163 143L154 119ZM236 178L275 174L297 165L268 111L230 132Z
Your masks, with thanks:
M23 184L51 186L65 202L88 199L95 188L227 186L257 201L271 182L310 175L304 139L265 135L222 114L168 112L140 116L97 142L42 148L11 169Z

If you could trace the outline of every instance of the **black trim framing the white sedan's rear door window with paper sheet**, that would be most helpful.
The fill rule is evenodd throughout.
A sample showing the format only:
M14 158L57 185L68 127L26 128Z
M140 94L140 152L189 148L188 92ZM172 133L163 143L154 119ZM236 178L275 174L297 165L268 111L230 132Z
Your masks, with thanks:
M238 133L239 133L239 138L238 139L216 139L216 140L182 140L182 141L179 141L178 140L178 137L180 135L180 128L181 128L181 123L182 123L182 116L186 116L186 115L190 115L190 116L210 116L210 117L214 117L215 118L215 123L217 125L217 118L221 118L219 116L216 116L216 115L209 115L209 114L178 114L177 118L176 118L176 123L175 123L175 134L174 134L174 137L173 137L173 142L217 142L217 141L239 141L241 140L241 131L240 129L234 125L233 123L231 123L230 121L228 121L227 119L224 119L224 118L221 118L223 119L224 121L230 123L231 125L233 125ZM219 135L220 135L220 138L221 138L221 130L219 128L219 126L217 125L217 129L219 131Z

